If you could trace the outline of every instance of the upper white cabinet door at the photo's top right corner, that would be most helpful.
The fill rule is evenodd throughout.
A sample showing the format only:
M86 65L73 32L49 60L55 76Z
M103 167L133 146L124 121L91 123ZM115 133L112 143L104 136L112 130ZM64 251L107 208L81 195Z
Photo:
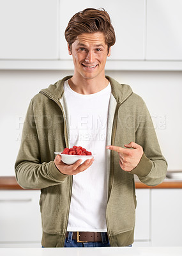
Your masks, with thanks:
M147 60L182 60L182 1L147 1Z

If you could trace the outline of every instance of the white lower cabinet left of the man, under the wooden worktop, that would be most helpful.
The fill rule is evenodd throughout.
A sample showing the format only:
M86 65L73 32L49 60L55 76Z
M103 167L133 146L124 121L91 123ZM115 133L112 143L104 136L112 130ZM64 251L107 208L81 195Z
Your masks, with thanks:
M0 191L0 247L41 246L39 190Z

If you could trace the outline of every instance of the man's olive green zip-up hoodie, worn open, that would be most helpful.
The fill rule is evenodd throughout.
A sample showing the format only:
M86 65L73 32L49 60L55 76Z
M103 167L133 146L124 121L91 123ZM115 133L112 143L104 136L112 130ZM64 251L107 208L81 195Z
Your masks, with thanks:
M72 175L64 175L54 164L54 152L70 147L63 84L69 77L41 90L29 104L19 154L15 163L17 182L22 188L41 189L45 247L64 246L72 195ZM140 163L125 172L117 152L107 150L107 232L110 246L133 243L135 226L136 174L149 186L160 184L167 172L155 129L144 101L127 84L107 77L112 86L107 124L107 145L124 147L134 141L144 154ZM72 146L72 145L71 145Z

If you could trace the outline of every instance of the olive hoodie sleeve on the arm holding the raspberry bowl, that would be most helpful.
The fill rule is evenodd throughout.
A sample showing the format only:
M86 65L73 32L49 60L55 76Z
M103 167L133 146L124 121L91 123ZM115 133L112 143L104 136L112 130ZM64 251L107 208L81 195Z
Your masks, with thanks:
M39 134L33 110L33 100L27 109L19 154L15 162L15 175L22 188L42 189L64 182L68 175L57 170L54 161L40 161Z

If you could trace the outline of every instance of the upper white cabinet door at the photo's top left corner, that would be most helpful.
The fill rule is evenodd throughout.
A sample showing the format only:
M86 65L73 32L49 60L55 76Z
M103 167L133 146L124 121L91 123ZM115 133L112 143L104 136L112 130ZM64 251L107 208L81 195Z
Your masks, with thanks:
M57 59L57 0L1 0L0 59Z

